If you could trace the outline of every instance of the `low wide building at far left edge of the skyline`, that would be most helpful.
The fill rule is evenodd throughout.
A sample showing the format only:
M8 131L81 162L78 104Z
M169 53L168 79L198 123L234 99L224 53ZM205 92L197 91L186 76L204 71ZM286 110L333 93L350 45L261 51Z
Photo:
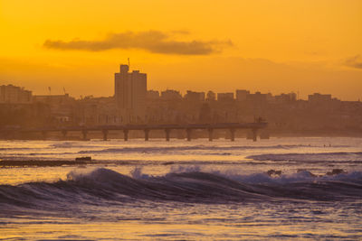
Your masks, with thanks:
M31 104L32 101L32 91L13 85L0 86L0 103Z

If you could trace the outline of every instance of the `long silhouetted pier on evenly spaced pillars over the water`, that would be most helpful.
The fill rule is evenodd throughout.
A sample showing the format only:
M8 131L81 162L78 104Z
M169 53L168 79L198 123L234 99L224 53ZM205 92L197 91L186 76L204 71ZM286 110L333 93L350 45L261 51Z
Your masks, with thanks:
M258 130L265 128L268 124L266 122L254 122L254 123L216 123L216 124L175 124L175 125L99 125L99 126L72 126L72 127L54 127L54 128L34 128L27 130L16 130L20 133L40 133L43 134L43 138L46 138L50 132L59 132L63 137L69 132L80 132L82 138L87 140L88 133L99 131L103 135L103 140L108 140L108 134L110 131L122 131L124 141L129 141L129 131L143 131L145 134L145 141L149 140L149 132L152 130L164 130L165 139L168 142L170 140L170 134L172 130L185 130L186 140L192 140L192 134L195 130L206 130L208 132L208 140L213 141L213 132L215 129L225 129L230 132L230 140L235 140L235 132L238 129L250 129L252 130L252 140L256 142Z

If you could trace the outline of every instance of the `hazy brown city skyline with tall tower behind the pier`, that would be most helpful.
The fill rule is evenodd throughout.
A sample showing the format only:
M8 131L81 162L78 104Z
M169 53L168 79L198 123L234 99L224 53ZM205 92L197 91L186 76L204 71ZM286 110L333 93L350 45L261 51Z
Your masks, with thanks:
M184 94L171 88L157 91L148 89L148 73L129 70L129 64L119 65L112 89L114 96L111 97L74 98L65 90L62 95L52 95L49 88L49 95L32 96L27 89L3 85L0 86L4 116L1 125L5 130L12 126L42 125L62 129L97 125L252 123L259 119L269 123L268 132L274 135L358 135L361 131L361 102L340 100L331 94L310 93L307 99L300 99L298 93L293 92L272 95L252 93L248 89L217 93L187 90ZM24 116L37 117L27 123L24 120L28 117Z

